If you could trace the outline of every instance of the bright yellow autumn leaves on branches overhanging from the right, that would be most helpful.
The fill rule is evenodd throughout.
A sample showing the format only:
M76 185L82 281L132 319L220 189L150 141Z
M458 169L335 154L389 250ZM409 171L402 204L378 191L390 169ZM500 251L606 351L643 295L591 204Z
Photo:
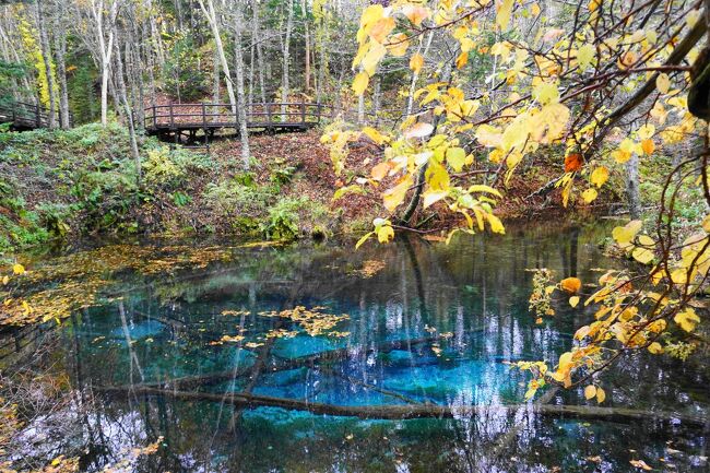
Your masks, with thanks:
M368 140L381 150L369 176L338 190L381 199L384 214L357 245L372 236L390 241L394 229L407 228L419 201L424 209L446 206L461 214L448 239L457 232L504 233L494 208L505 199L511 176L535 154L559 155L561 173L551 187L561 190L567 206L575 200L593 202L614 169L629 159L649 159L660 150L673 152L683 140L705 137L702 121L688 111L691 71L682 63L698 57L705 19L685 2L667 2L663 12L655 7L580 2L559 12L568 22L565 28L540 2L393 1L367 7L357 33L353 92L367 93L387 57L403 58L414 80L424 76L427 83L412 96L418 111L397 129L334 126L323 135L338 174L346 170L348 142ZM422 55L430 35L454 51L443 63L430 63ZM483 86L470 84L465 73L473 55L497 64ZM485 161L498 166L493 180L476 175ZM699 168L694 185L710 201L705 161L699 164L699 156L690 156L671 177L683 180ZM687 343L678 333L691 339L700 322L694 296L702 291L710 267L710 224L706 218L703 228L676 240L671 177L655 236L640 234L640 221L614 230L616 244L640 268L604 274L596 282L599 291L585 299L577 277L547 285L543 280L549 275L537 273L531 298L537 317L552 315L548 300L555 291L571 307L583 300L596 314L554 367L543 362L519 365L535 375L529 395L552 380L565 387L585 385L585 397L603 402L599 370L629 351L661 354L664 346ZM685 355L687 344L682 346L677 351Z

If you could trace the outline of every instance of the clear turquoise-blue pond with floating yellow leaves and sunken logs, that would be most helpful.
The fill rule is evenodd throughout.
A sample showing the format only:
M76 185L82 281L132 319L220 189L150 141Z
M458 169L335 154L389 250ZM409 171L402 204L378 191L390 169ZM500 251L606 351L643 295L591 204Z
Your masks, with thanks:
M560 298L540 323L526 270L593 283L619 264L599 228L358 251L141 241L36 259L45 299L69 291L84 308L5 335L5 368L47 367L73 393L12 454L79 449L82 471L125 459L173 473L636 472L638 460L707 472L708 424L682 417L707 418L708 365L634 354L601 379L604 410L581 389L524 401L509 362L556 360L594 312Z

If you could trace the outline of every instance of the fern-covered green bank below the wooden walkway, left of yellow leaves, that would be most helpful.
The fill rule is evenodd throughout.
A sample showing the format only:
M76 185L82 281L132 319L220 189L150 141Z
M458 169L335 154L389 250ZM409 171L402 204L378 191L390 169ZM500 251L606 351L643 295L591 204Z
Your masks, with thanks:
M0 131L0 253L102 234L327 237L343 211L310 134L255 137L248 172L232 141L204 153L144 138L139 177L117 123Z

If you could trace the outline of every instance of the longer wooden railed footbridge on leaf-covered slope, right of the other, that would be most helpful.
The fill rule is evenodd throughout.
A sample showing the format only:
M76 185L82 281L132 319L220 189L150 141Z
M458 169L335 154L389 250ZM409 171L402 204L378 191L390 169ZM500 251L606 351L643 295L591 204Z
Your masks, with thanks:
M350 115L334 107L310 103L259 103L247 104L247 128L275 133L277 131L306 131L321 122L322 118ZM369 115L369 114L368 114ZM235 129L239 132L239 118L229 104L168 104L145 108L145 131L165 141L184 140L203 144L217 131ZM201 132L201 135L198 133Z

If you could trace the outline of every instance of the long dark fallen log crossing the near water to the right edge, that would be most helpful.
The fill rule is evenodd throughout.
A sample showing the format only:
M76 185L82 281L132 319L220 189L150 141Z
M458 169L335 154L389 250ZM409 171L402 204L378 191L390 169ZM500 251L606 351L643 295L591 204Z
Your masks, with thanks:
M130 393L131 395L162 395L180 401L193 402L223 402L237 407L282 407L293 411L305 411L312 414L334 415L343 417L358 417L364 419L401 421L411 418L459 418L476 417L484 414L513 414L518 411L528 411L531 414L544 417L580 418L587 421L623 422L654 421L675 422L705 427L707 418L678 414L675 412L643 411L626 407L600 407L593 405L551 405L551 404L512 404L512 405L438 405L438 404L393 404L393 405L333 405L307 402L286 398L272 398L269 395L210 392L177 391L146 387L104 387L96 388L108 394Z

